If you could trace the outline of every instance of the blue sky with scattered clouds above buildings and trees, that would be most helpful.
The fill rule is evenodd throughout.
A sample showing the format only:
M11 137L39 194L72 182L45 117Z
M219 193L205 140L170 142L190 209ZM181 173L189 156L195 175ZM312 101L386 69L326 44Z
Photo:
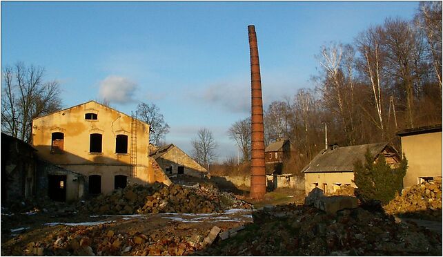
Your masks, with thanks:
M170 125L166 142L190 153L206 127L224 160L237 155L226 131L250 111L248 25L267 106L314 87L320 46L352 43L386 17L411 19L418 4L2 1L1 66L43 66L61 84L63 107L106 97L130 114L155 103Z

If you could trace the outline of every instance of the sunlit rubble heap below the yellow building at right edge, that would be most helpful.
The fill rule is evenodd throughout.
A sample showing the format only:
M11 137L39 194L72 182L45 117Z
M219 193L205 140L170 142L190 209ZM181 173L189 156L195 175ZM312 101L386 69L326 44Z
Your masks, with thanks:
M384 207L386 213L431 220L442 219L442 181L423 182L404 189Z

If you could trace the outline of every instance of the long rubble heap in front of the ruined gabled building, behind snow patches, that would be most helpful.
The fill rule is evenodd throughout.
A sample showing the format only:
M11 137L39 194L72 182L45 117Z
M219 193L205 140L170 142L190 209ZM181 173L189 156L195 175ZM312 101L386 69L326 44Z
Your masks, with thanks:
M135 184L86 203L86 209L95 214L213 213L229 208L250 209L251 206L233 194L220 192L211 184L195 187Z

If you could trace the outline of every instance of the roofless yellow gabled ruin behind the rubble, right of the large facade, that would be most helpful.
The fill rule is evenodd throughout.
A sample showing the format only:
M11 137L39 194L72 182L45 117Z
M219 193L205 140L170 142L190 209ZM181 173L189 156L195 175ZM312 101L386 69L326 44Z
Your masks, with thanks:
M151 144L150 149L150 157L159 164L167 175L186 174L203 178L208 173L203 166L174 144L167 144L159 148Z

